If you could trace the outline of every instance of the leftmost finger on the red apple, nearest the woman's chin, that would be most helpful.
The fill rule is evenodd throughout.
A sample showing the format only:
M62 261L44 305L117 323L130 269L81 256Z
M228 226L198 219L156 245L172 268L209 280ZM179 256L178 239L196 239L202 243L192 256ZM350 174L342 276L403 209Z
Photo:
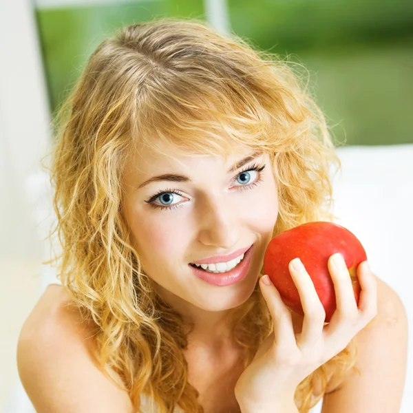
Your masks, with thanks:
M268 275L261 277L260 288L274 321L275 343L280 348L292 349L297 347L291 313Z

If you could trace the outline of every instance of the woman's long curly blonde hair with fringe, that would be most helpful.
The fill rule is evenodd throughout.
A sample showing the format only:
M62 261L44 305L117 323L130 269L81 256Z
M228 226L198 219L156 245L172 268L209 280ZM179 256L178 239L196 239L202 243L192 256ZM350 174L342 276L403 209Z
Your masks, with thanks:
M96 359L137 411L147 394L160 413L176 405L202 412L182 352L189 330L155 293L132 246L122 212L123 168L142 145L156 150L169 142L186 154L226 156L236 142L271 158L279 197L273 236L332 221L330 169L340 162L324 115L297 65L202 21L163 18L103 41L56 121L52 235L62 252L52 262L72 302L98 327ZM234 315L245 367L272 330L257 283ZM355 357L351 341L302 381L299 411L324 396L331 375L339 383Z

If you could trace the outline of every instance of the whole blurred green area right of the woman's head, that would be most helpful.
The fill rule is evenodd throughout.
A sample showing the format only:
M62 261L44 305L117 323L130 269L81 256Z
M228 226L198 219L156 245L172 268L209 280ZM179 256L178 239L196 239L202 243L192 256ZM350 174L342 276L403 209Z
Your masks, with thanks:
M412 1L229 0L229 10L237 35L308 69L336 142L413 142Z

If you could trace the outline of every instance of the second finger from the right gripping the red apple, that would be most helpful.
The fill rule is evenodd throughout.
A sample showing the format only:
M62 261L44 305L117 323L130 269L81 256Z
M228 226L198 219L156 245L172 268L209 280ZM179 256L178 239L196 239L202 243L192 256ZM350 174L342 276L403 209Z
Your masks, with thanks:
M354 326L359 320L359 309L354 298L352 280L343 256L333 254L328 259L328 271L334 284L337 308L326 326L326 335L332 335L338 330Z

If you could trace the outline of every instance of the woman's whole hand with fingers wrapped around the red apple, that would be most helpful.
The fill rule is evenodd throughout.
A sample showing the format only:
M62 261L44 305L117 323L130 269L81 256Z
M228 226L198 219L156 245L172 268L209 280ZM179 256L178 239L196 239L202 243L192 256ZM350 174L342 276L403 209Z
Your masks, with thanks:
M328 270L335 287L337 309L325 326L326 313L313 281L298 258L289 264L304 310L302 329L297 334L293 330L291 313L268 275L260 280L262 295L273 317L274 332L262 343L235 385L240 407L266 412L279 406L280 401L293 400L299 383L346 348L377 314L376 278L368 262L357 268L361 286L358 308L350 275L340 254L329 258Z

